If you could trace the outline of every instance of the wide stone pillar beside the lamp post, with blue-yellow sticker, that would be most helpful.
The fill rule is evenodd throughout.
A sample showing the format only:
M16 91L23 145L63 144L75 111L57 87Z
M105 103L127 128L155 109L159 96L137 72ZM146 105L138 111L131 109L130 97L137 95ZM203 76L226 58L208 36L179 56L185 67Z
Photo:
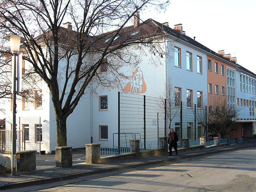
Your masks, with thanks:
M17 151L17 173L36 171L36 151Z

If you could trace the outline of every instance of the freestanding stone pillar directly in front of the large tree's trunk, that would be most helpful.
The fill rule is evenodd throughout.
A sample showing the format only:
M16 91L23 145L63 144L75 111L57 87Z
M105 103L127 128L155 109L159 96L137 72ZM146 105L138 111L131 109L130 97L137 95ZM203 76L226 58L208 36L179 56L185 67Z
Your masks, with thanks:
M55 150L56 167L72 166L72 147L55 147Z

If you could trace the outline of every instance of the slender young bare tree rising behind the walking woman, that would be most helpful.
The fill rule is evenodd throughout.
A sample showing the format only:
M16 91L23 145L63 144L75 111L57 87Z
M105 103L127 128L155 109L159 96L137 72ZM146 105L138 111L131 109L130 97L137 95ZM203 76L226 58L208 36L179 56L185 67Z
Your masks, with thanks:
M164 87L165 90L162 93L158 93L158 97L160 98L158 106L163 113L166 113L166 116L169 119L168 128L171 129L172 120L180 112L180 95L175 94L171 76L167 77Z

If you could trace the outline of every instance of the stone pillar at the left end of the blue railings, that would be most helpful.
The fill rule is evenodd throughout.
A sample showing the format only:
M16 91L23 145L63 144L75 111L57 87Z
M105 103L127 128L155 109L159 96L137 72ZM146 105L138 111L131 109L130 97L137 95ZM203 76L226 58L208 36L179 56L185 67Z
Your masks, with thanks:
M86 163L100 162L100 143L85 144L85 160Z

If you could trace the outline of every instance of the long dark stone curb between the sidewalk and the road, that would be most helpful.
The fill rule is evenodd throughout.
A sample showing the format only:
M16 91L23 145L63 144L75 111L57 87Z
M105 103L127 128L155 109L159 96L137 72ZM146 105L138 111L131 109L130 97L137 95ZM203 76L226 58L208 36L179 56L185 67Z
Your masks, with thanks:
M189 156L176 156L175 158L166 158L166 159L153 160L153 161L137 163L137 164L103 168L103 169L98 169L98 170L93 170L93 171L71 173L71 174L61 175L61 176L56 176L56 177L6 183L6 184L2 184L0 186L0 190L28 187L31 185L41 185L41 184L53 183L53 182L58 182L58 181L63 181L63 180L75 179L77 177L84 177L84 176L88 176L88 175L94 175L94 174L106 173L106 172L114 172L114 171L120 171L120 170L124 170L124 169L136 168L136 167L144 167L144 166L149 166L149 165L156 165L156 164L167 163L167 162L177 161L177 160L181 160L181 159L196 157L196 156L210 155L210 154L228 152L228 151L233 151L233 150L242 149L242 148L250 148L250 147L253 147L253 146L241 146L241 147L237 147L237 148L228 148L228 149L216 150L216 151L211 151L211 152L203 152L203 150L202 150L202 153L192 154Z

